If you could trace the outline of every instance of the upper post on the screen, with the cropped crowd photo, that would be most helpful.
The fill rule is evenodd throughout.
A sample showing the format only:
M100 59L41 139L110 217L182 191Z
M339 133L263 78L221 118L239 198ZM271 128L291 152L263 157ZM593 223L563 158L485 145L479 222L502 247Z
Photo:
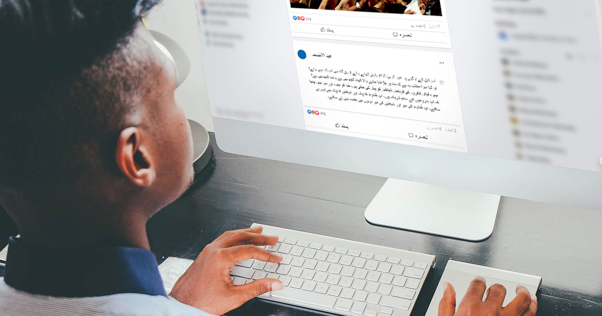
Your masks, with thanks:
M294 37L452 48L441 0L284 1Z

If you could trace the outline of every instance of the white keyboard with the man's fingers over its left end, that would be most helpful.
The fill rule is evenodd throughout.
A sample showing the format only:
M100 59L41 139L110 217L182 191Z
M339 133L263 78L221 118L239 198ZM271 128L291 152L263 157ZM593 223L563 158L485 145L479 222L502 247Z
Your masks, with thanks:
M237 285L264 277L284 283L260 299L339 315L409 316L435 262L433 255L261 226L279 237L265 249L284 259L240 262L230 273Z

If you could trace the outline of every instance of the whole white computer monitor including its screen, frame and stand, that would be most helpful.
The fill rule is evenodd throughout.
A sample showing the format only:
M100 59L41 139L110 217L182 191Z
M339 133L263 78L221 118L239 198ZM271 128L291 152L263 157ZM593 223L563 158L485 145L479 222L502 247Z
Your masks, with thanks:
M390 178L369 222L467 240L500 196L602 209L599 1L385 2L197 1L218 146Z

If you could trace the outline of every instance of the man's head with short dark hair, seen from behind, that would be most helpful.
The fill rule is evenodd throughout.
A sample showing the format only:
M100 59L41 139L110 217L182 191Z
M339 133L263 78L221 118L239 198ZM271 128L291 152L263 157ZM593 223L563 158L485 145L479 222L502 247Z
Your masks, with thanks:
M22 235L148 218L190 184L175 69L140 22L156 2L0 0L0 203Z

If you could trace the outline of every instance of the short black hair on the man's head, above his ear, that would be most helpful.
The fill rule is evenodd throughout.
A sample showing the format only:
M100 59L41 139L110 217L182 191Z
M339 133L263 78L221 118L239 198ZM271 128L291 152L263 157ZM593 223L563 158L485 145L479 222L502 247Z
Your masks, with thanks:
M128 47L158 2L0 0L0 188L48 185L108 153L149 67Z

